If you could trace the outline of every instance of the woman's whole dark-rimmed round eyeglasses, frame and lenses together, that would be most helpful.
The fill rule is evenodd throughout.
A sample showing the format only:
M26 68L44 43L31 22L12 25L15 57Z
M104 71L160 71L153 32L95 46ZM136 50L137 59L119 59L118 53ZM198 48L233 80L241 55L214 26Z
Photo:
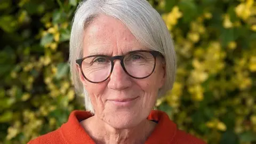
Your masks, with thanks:
M76 60L83 77L91 83L106 81L113 69L114 60L119 59L125 73L133 78L142 79L149 77L156 67L158 51L131 51L125 55L90 55Z

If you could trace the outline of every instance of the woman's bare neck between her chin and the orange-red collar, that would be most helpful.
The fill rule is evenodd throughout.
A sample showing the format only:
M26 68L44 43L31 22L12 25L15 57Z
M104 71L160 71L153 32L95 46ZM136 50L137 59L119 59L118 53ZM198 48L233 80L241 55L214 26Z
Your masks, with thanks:
M145 119L130 129L115 129L97 116L87 118L81 124L96 143L145 143L156 126L156 123Z

